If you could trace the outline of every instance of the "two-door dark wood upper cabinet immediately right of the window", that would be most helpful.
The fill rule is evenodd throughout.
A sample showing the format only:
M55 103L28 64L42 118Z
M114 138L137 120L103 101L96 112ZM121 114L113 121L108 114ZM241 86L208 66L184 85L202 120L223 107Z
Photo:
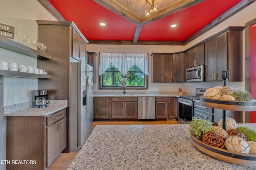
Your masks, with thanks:
M172 82L173 55L153 55L153 82Z

